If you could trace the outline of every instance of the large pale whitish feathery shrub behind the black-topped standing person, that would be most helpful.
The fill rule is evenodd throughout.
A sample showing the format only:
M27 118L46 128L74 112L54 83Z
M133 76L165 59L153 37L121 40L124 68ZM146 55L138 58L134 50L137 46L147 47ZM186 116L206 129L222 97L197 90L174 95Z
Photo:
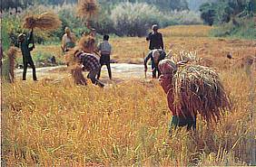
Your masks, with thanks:
M111 19L118 35L143 36L153 23L160 23L161 15L151 5L121 3L113 9Z

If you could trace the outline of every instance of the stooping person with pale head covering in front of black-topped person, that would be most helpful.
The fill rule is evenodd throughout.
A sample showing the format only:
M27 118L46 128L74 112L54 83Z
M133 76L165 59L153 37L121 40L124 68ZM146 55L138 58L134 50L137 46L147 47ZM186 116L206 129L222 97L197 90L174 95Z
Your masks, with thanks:
M153 51L150 51L149 54L144 59L144 70L145 72L148 70L147 68L147 62L148 60L151 60L151 66L152 66L152 73L153 73L153 79L156 79L156 72L158 73L157 78L161 75L161 71L158 68L158 63L160 60L163 60L166 56L165 51L161 49L155 49Z

